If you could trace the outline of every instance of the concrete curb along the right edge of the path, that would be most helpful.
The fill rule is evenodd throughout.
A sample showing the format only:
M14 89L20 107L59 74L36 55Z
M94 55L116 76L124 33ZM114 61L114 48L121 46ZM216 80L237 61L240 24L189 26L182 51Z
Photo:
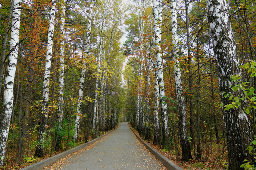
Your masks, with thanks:
M129 124L130 129L131 126ZM178 165L176 165L175 163L173 163L172 161L170 161L170 159L168 159L167 157L165 157L164 155L162 155L160 152L158 152L157 150L155 150L153 147L151 147L149 144L147 144L145 141L142 140L142 138L140 138L132 129L133 133L136 135L136 137L145 145L146 148L148 148L148 150L155 155L155 157L157 157L157 159L159 159L169 170L183 170L182 168L180 168Z

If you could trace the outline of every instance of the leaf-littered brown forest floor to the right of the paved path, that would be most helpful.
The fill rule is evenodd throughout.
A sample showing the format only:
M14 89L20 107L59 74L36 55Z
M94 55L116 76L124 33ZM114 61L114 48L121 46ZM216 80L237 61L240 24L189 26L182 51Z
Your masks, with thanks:
M136 132L137 135L139 135L139 132L136 129L133 129L133 130L134 132ZM144 136L141 136L141 135L139 136L144 140ZM148 140L144 140L144 141L148 143ZM152 144L152 143L153 143L153 140L149 141L148 144L184 170L225 170L228 165L225 149L222 153L220 153L220 150L223 149L222 142L220 142L220 144L212 143L211 148L208 148L208 150L205 149L205 152L202 153L203 159L201 160L191 159L188 162L184 162L180 160L181 159L180 146L178 146L179 159L177 159L177 154L174 147L171 150L161 149L157 144ZM209 151L209 153L207 153L207 151ZM193 152L191 154L193 154Z

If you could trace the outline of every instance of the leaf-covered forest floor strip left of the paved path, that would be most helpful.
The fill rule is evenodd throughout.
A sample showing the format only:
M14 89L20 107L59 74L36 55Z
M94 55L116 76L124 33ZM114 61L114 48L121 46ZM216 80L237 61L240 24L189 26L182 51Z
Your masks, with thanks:
M112 129L110 129L110 130L112 130ZM110 130L109 130L109 131L110 131ZM109 132L109 131L106 131L105 133L107 133L107 132ZM99 133L99 136L104 135L105 133L100 132L100 133ZM91 136L91 134L90 134L90 135L89 135L88 142L91 141L91 140L93 140L93 138L92 138L92 136ZM80 139L80 142L75 143L75 146L74 146L74 147L77 147L77 146L79 146L79 145L81 145L81 144L84 144L84 143L85 143L85 141L83 140L83 137L82 137L82 138ZM64 145L63 145L63 148L64 148ZM71 148L73 148L73 147L70 147L70 146L69 146L69 147L68 147L68 150L71 149ZM0 167L0 170L17 170L17 169L21 169L21 168L27 167L27 166L29 166L29 165L32 165L32 164L36 163L36 162L39 162L39 161L41 161L41 160L47 159L47 158L49 158L49 157L51 157L51 156L55 156L55 155L58 155L58 154L61 153L61 152L66 151L65 148L64 148L64 149L61 149L61 150L59 150L59 151L54 151L54 152L52 153L52 155L50 154L50 151L49 151L49 152L46 153L45 157L43 157L43 158L37 158L37 157L36 157L36 158L35 158L34 156L32 156L33 153L35 153L35 149L36 149L36 148L31 149L31 150L27 150L27 151L24 153L24 155L28 155L28 156L24 156L21 165L18 165L18 164L16 163L17 148L10 148L10 150L8 151L8 153L7 153L7 155L6 155L7 158L5 159L5 161L6 161L6 162L5 162L5 166L4 166L4 167ZM31 154L31 153L32 153L32 154Z

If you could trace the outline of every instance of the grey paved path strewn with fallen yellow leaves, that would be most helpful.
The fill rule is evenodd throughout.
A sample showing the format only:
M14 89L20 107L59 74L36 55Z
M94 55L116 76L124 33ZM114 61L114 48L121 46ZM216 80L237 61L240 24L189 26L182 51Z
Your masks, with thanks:
M43 169L165 169L130 130L128 123Z

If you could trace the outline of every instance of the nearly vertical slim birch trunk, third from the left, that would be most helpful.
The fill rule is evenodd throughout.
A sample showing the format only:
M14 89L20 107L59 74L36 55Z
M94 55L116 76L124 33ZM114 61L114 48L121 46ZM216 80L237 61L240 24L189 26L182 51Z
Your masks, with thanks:
M65 3L65 2L64 2ZM60 77L59 77L59 97L58 97L58 130L62 127L62 120L63 120L63 93L64 93L64 58L65 58L65 4L61 6L61 44L60 44Z

